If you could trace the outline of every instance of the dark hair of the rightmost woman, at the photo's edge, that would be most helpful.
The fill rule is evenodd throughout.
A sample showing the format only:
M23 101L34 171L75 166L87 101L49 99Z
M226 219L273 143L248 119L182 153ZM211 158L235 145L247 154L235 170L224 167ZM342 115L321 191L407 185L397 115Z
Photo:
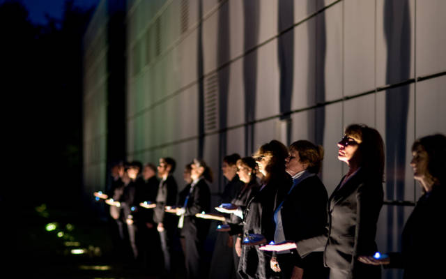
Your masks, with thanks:
M412 145L412 151L421 146L427 153L427 171L440 184L446 183L446 137L442 134L421 137Z

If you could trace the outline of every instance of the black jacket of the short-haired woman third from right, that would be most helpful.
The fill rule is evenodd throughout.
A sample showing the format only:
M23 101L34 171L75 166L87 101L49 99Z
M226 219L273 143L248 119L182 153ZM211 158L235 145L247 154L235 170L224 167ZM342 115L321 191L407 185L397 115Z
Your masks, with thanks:
M327 202L327 190L318 176L310 176L300 181L285 198L280 211L285 239L300 241L324 234L327 225ZM323 268L320 256L317 259L300 259L296 255L295 265L303 269L310 266Z

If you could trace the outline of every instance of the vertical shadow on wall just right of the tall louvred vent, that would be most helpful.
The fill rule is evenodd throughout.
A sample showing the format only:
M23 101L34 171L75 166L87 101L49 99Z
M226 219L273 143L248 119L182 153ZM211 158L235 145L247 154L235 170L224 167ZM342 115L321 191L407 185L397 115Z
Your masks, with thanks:
M218 38L217 38L217 66L229 61L229 2L224 3L218 10ZM228 92L229 92L229 66L221 68L218 73L218 98L219 98L219 128L227 127L228 118ZM226 156L226 130L219 134L219 160L222 162ZM222 193L224 186L224 178L222 176L222 169L219 170L219 192Z

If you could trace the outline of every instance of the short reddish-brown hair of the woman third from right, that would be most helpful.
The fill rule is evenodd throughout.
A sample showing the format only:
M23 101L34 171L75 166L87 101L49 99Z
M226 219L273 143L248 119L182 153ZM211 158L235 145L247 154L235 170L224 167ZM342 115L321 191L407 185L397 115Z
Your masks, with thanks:
M323 160L323 147L307 140L298 140L293 142L290 147L290 151L296 151L299 153L300 162L307 163L307 170L313 174L318 174L321 170Z

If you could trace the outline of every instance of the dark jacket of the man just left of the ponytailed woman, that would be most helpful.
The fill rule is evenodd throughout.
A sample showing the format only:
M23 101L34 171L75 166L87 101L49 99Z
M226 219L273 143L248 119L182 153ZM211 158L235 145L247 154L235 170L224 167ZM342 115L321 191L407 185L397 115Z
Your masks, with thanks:
M164 206L176 206L176 195L178 193L178 186L174 176L167 176L167 179L160 183L158 193L156 196L156 207L153 209L153 220L155 223L163 223L164 228L166 223L174 225L176 216L171 213L165 213Z

